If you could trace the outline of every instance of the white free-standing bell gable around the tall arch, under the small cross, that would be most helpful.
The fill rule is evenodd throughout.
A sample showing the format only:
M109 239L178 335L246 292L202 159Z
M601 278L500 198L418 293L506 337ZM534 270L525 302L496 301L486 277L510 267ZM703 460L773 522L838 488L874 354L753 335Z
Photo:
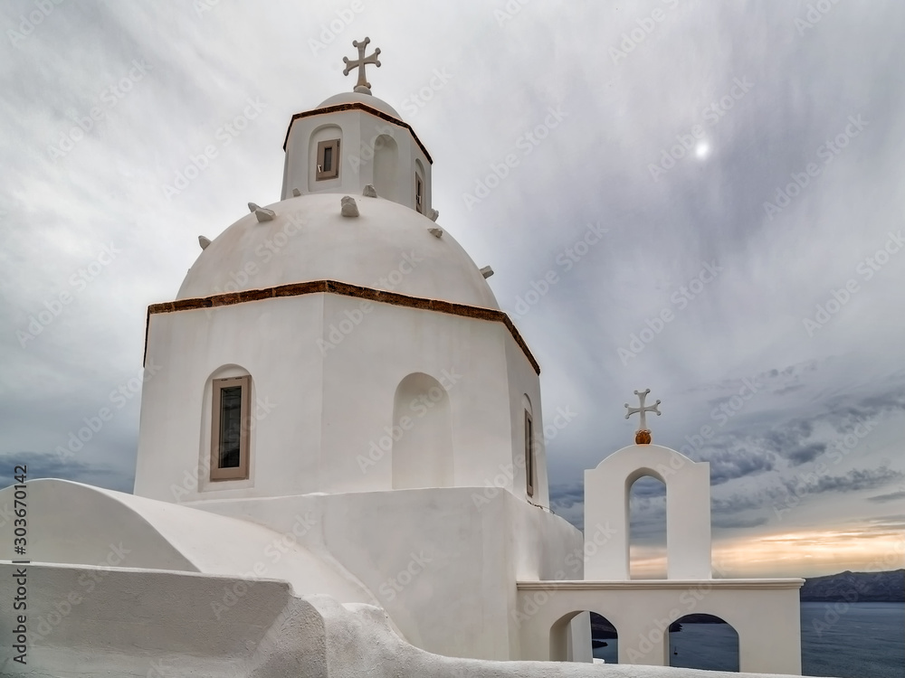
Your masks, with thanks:
M668 579L710 579L710 465L669 447L632 445L585 471L585 526L610 526L585 557L586 579L630 579L629 490L653 476L666 484Z

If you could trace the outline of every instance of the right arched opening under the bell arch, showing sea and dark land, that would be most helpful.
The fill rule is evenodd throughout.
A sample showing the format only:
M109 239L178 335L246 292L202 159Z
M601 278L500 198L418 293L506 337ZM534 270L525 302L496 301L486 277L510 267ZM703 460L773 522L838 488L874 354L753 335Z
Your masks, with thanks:
M670 666L738 671L738 632L713 615L685 615L672 622L667 651Z

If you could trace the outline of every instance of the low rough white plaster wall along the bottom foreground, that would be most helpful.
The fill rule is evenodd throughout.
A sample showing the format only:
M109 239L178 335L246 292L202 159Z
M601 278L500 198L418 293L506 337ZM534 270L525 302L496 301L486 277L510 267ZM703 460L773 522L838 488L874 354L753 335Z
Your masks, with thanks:
M13 572L12 565L0 563L3 599L13 597ZM585 678L605 671L612 678L755 678L752 673L429 654L396 636L377 607L342 606L324 596L297 598L278 581L254 584L220 619L205 617L199 610L210 600L245 582L186 573L112 570L103 586L80 594L58 623L48 625L50 613L79 593L84 572L30 567L32 619L39 624L31 626L29 663L14 664L5 653L0 673L59 678ZM10 615L0 616L0 634L11 637L13 624Z

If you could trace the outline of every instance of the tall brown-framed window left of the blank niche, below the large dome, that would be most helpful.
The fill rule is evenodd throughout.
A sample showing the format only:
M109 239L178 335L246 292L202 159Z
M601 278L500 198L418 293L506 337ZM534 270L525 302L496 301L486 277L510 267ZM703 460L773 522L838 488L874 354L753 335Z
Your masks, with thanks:
M248 477L251 377L214 379L211 427L211 480Z

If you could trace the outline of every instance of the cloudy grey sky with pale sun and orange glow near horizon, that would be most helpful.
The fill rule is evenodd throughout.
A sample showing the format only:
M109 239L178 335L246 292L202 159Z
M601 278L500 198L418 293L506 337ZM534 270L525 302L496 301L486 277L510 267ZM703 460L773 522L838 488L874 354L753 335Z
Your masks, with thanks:
M902 25L897 0L4 3L0 482L131 491L147 306L279 200L292 114L352 88L367 35L438 223L541 364L557 514L581 526L650 388L653 441L710 462L719 575L903 567ZM664 507L634 485L639 576Z

